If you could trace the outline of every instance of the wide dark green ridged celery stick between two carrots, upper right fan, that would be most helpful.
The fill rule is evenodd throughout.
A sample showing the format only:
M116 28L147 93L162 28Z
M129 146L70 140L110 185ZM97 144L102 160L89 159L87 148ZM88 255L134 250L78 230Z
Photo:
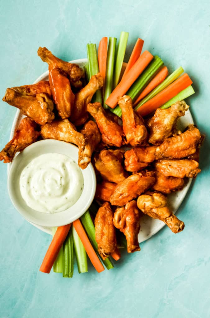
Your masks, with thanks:
M138 96L141 94L141 92L144 90L144 88L149 84L151 79L158 73L160 68L163 66L163 61L159 56L154 56L154 59L149 63L147 68L144 70L144 72L139 76L138 79L134 82L134 84L130 87L130 89L127 91L126 95L129 95L132 101L134 102ZM121 117L122 112L119 108L119 105L111 110L112 113L115 115Z

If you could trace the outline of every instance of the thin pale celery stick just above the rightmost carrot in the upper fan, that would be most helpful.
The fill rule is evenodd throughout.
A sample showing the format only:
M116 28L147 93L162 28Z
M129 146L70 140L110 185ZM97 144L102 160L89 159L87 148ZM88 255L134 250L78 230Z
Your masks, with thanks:
M144 103L146 103L148 100L156 96L158 93L160 93L164 88L169 86L175 79L179 77L184 72L183 68L180 66L177 68L176 71L174 71L172 74L170 74L161 84L159 84L156 88L151 91L141 102L135 107L135 110L137 110L140 106L142 106Z

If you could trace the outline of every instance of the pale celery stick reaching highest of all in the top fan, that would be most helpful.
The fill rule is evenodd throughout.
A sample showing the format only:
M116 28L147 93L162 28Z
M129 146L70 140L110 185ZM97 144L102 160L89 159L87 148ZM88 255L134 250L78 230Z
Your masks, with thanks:
M118 49L117 49L117 56L116 56L116 62L115 62L115 67L114 67L114 80L113 80L112 89L115 89L115 87L119 83L119 76L120 76L120 73L121 73L122 63L123 63L125 52L126 52L128 35L129 35L128 32L122 31L120 33L119 44L118 44Z

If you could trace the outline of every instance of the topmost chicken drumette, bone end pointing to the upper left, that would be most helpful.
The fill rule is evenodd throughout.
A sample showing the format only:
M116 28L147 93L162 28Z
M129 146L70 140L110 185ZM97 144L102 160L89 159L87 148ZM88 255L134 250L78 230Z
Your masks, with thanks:
M46 47L39 47L37 54L43 62L48 63L50 69L57 68L68 74L70 83L74 87L82 86L80 79L84 77L84 71L78 65L58 59Z

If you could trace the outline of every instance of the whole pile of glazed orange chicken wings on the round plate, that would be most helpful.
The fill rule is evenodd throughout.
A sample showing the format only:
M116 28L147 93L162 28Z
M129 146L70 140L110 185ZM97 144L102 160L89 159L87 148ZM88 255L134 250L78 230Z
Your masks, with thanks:
M158 108L143 120L129 96L118 98L122 122L99 102L91 103L103 86L100 73L83 87L84 71L55 57L46 47L38 55L48 63L49 81L12 87L3 98L26 116L13 139L0 152L11 162L18 151L39 139L56 139L78 146L78 165L92 162L97 176L95 217L98 252L105 259L117 248L116 228L124 233L127 252L139 251L140 217L163 221L172 232L184 229L170 210L166 194L182 189L199 169L203 135L194 125L177 129L189 108L178 101Z

